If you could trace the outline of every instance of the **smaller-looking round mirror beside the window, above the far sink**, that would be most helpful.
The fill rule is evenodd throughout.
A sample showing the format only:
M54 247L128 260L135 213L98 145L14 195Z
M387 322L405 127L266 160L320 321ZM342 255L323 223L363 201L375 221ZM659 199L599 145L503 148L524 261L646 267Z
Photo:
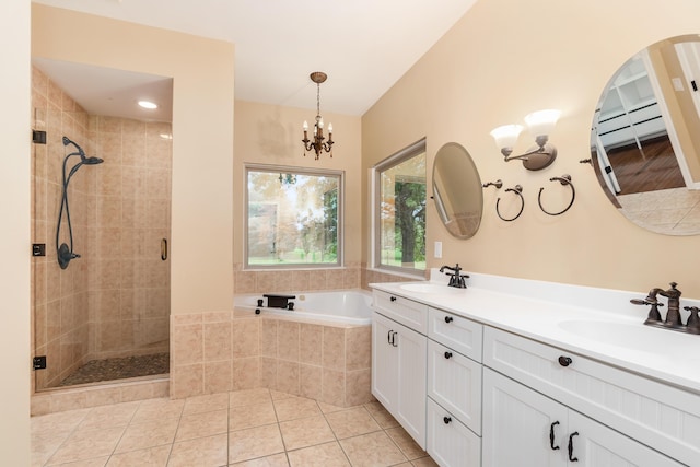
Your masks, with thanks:
M481 179L471 156L448 142L433 164L433 199L440 220L453 236L470 238L479 230L483 211Z

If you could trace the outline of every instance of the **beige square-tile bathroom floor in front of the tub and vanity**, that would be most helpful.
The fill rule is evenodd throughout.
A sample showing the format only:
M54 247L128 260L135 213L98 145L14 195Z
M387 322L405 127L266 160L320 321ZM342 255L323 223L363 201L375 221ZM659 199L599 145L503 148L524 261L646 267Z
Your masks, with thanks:
M32 465L435 466L378 404L269 389L148 399L32 418Z

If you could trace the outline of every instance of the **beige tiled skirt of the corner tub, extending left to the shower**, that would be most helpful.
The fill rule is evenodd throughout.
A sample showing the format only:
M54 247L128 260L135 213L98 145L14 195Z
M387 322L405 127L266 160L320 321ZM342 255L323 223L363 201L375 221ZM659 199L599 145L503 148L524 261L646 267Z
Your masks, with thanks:
M339 407L373 400L371 326L253 313L172 316L171 397L266 387Z

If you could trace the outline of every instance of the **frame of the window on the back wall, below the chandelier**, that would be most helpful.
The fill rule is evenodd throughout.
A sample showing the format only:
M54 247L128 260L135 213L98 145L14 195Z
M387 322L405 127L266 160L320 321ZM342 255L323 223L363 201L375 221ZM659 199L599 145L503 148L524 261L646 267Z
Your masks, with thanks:
M314 167L299 167L288 165L272 165L272 164L256 164L245 163L243 168L243 183L245 185L243 196L243 212L244 212L244 226L243 226L243 268L245 270L272 270L272 269L337 269L342 268L345 265L345 171L336 171L329 168L314 168ZM336 255L336 262L293 262L293 264L275 264L275 265L250 265L248 257L248 207L249 207L249 194L248 194L248 173L249 172L270 172L270 173L284 173L284 174L300 174L300 175L313 175L319 177L337 177L338 178L338 252Z

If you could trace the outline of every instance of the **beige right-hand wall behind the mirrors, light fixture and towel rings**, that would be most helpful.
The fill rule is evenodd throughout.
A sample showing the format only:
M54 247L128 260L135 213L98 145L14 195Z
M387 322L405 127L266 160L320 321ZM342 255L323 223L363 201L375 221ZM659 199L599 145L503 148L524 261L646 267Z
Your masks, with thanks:
M427 136L429 174L438 149L456 141L482 182L503 179L500 191L485 190L483 221L471 240L451 237L429 205L429 266L459 262L468 271L640 293L677 281L685 295L698 297L700 236L663 236L630 223L606 199L592 166L579 163L590 156L595 105L617 68L664 37L697 34L698 14L695 0L479 1L363 116L363 168ZM550 107L562 110L551 136L555 164L527 172L504 163L489 131ZM522 135L516 151L532 142ZM537 192L545 187L550 211L565 207L569 191L549 182L562 174L572 176L576 200L565 214L548 217ZM525 210L506 223L494 205L516 184L524 187ZM435 241L443 242L442 259L432 257ZM364 255L366 245L365 238Z

